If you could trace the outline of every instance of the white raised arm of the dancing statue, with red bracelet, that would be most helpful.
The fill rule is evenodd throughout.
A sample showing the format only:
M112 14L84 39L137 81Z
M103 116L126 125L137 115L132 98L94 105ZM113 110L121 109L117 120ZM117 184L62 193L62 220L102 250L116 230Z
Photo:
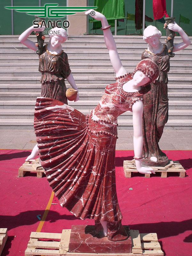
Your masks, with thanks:
M105 16L102 13L96 12L94 10L89 10L89 11L85 12L85 14L89 14L94 19L101 21L101 24L102 24L101 29L103 30L103 33L104 33L105 44L106 44L107 49L109 50L109 57L111 60L111 64L114 68L114 71L116 73L116 76L121 76L121 75L124 75L125 73L127 73L126 69L123 67L123 65L121 63L121 60L119 59L119 54L117 52L115 40L114 40L113 35L110 30L111 26L109 25ZM94 14L94 15L92 15L92 14Z

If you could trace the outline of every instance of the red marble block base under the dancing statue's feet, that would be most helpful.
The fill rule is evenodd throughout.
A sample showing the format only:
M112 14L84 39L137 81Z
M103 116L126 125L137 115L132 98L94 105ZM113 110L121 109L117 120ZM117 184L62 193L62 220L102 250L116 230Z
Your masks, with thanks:
M128 228L128 226L124 226ZM73 225L69 252L76 253L131 253L131 236L124 241L111 242L103 232L96 233L95 226Z

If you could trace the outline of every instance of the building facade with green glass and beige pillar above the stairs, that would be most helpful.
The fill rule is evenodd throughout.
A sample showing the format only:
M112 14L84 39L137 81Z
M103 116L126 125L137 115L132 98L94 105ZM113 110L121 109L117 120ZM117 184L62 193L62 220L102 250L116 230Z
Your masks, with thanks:
M108 0L103 0L108 1ZM118 1L118 0L117 0ZM5 6L43 6L46 3L57 3L59 6L94 6L95 0L0 0L0 35L19 35L25 29L33 25L34 16L27 15L26 13L17 12L15 10L5 9ZM26 4L27 3L27 4ZM29 4L28 4L29 3ZM162 35L165 35L163 29L164 22L155 21L153 18L153 0L146 1L145 15L153 19L152 22L145 21L145 26L156 26ZM171 1L166 1L167 12L171 13ZM192 36L192 1L191 0L173 0L173 16L175 21L186 31L189 36ZM117 21L117 35L141 35L142 29L135 28L135 21L127 19L127 14L135 14L135 1L125 0L125 19ZM182 19L180 19L182 17ZM183 17L186 18L183 20ZM102 35L103 31L98 28L93 30L93 22L91 17L85 15L83 12L75 15L68 15L60 20L68 20L70 26L67 29L68 35L79 36L85 34ZM48 20L48 18L46 18ZM51 20L51 19L50 19ZM89 22L88 22L89 21ZM184 22L183 22L184 21ZM111 31L114 34L115 28L111 26Z

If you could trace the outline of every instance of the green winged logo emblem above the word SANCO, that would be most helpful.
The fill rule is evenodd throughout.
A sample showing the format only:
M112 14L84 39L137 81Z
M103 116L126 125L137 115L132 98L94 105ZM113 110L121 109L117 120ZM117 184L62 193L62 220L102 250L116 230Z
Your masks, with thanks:
M26 12L29 15L37 15L40 18L62 18L66 15L72 15L77 12L85 12L89 9L96 9L95 6L86 7L70 7L70 6L58 6L58 4L45 4L42 6L6 6L7 9L12 9L17 12Z

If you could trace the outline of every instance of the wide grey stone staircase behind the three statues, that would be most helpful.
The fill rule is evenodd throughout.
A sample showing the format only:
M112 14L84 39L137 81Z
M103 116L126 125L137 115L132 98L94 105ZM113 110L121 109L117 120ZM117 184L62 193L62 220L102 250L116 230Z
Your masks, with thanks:
M35 101L41 93L38 55L20 44L18 37L0 36L0 129L33 129ZM36 42L35 36L30 37ZM142 36L115 36L115 41L124 67L132 72L147 44ZM174 43L179 42L181 38L176 37ZM80 100L69 104L88 114L97 105L105 86L115 81L104 38L69 37L63 49L80 90ZM175 53L168 78L169 120L165 129L191 130L192 45ZM133 129L132 113L119 116L118 123L120 130Z

